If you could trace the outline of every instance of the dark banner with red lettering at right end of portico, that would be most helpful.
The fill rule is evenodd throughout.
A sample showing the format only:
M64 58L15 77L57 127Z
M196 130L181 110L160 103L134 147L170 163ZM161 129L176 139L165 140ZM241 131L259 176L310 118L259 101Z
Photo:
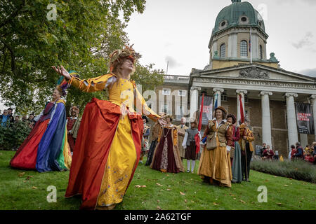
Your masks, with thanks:
M310 104L295 103L295 107L298 132L301 134L315 134Z

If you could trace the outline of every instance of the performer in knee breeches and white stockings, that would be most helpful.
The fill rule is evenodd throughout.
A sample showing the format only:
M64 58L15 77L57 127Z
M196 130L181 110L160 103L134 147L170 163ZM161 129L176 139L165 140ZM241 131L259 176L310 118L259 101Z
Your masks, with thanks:
M187 160L187 173L190 172L191 163L191 173L195 170L195 160L197 160L197 146L195 144L195 135L199 134L199 139L201 139L201 134L197 130L197 119L190 118L191 127L185 130L185 137L183 139L182 147L185 149L185 159Z

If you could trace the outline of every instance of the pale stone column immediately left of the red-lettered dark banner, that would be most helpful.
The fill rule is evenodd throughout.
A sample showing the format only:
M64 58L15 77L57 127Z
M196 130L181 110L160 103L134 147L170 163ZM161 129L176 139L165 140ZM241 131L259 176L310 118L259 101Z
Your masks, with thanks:
M295 113L295 104L294 97L298 97L296 93L286 93L284 94L287 97L287 130L288 130L288 139L289 139L289 150L291 145L296 144L298 141L298 132L297 132L297 123L296 123L296 113Z

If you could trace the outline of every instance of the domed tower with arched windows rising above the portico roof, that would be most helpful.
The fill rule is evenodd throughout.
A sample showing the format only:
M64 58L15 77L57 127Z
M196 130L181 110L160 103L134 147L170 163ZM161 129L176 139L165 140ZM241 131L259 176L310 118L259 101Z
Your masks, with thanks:
M208 68L235 66L251 59L252 62L278 68L275 57L267 59L267 39L263 18L251 3L232 1L230 6L220 10L216 18L209 41Z

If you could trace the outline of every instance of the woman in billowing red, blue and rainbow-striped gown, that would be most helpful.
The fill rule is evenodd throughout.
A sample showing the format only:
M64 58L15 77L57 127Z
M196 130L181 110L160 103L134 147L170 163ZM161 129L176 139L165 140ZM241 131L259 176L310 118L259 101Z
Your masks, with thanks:
M63 81L53 91L53 100L34 118L34 128L13 156L11 167L38 172L70 169L72 156L67 143L65 101L61 99L65 88L67 83Z

